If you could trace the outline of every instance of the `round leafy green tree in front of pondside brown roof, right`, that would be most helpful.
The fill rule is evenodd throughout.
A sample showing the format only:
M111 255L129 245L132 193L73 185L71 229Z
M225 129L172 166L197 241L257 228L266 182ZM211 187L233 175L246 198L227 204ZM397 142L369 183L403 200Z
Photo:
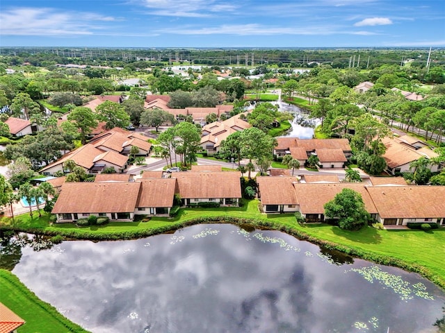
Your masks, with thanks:
M339 227L344 230L359 230L370 219L362 196L353 189L342 189L333 200L325 203L325 216L338 219Z

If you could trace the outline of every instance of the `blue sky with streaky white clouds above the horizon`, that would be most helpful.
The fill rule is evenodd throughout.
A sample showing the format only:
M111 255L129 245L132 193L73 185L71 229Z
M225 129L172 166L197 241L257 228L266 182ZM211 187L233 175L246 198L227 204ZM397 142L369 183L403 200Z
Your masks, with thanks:
M445 46L445 1L1 0L0 46Z

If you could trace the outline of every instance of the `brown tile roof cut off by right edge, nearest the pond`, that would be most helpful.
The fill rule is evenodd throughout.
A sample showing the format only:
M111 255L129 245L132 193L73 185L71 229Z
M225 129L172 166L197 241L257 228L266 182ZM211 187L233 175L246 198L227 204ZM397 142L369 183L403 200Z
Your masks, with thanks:
M445 186L368 187L382 219L445 217Z

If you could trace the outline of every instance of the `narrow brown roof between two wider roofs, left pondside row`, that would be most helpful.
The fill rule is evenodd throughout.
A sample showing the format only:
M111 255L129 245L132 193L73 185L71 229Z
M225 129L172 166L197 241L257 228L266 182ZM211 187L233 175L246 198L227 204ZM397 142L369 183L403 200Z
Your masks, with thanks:
M175 178L140 178L136 207L172 207L175 197Z

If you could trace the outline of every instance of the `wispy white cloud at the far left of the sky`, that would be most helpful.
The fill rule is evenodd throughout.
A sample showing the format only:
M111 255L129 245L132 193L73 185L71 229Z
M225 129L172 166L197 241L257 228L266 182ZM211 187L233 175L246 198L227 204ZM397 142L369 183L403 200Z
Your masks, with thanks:
M92 35L103 28L94 22L118 21L91 12L61 12L52 8L13 8L0 12L0 35Z

